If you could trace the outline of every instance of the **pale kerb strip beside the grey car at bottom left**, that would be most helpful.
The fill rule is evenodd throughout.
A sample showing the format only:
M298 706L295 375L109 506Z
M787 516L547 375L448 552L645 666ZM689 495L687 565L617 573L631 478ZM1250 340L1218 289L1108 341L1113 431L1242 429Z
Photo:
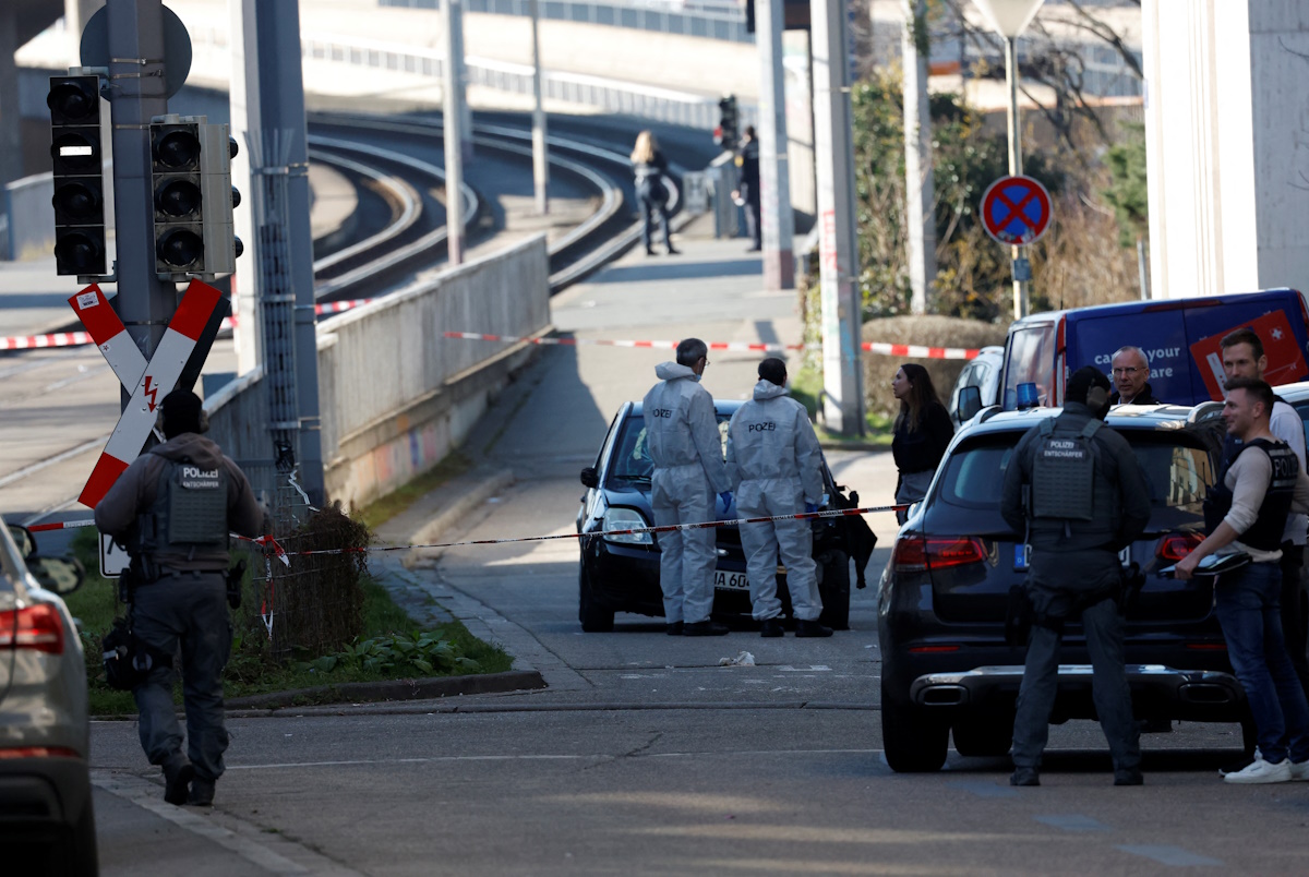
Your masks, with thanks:
M230 768L229 768L230 770ZM232 819L229 814L220 812L190 810L187 808L174 806L171 804L165 804L162 796L162 788L148 780L127 776L122 774L111 774L109 771L92 771L90 781L97 787L120 797L126 801L131 801L136 806L149 810L154 815L168 819L173 825L190 831L191 834L199 835L211 840L224 850L230 850L236 855L241 856L253 865L262 868L263 870L272 874L335 874L338 877L359 877L359 872L347 868L335 861L330 861L321 853L315 853L305 847L296 844L285 838L271 839L271 843L295 848L297 856L304 856L305 859L313 860L313 868L301 865L298 863L281 856L272 850L270 850L264 843L257 843L250 838L241 836L230 829L225 829L219 825L219 821ZM204 813L202 815L202 813ZM236 825L243 829L257 830L245 822L233 819Z

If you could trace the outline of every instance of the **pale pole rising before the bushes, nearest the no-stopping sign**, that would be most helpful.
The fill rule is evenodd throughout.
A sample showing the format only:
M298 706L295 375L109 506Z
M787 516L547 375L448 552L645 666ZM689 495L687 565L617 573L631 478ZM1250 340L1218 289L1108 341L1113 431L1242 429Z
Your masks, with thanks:
M927 0L905 0L905 200L908 228L910 310L927 313L927 298L936 280L936 179L932 174L932 116L927 99L925 39Z

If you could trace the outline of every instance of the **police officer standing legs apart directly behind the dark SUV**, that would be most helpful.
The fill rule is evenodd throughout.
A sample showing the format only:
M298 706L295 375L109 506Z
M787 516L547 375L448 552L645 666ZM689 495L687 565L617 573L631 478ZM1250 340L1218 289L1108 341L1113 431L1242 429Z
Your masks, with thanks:
M1004 474L1001 513L1031 548L1025 584L1033 626L1013 721L1011 785L1039 785L1058 690L1063 626L1080 619L1092 696L1114 759L1114 785L1140 785L1140 738L1123 666L1123 571L1118 552L1149 522L1149 492L1127 441L1101 421L1109 378L1094 367L1068 378L1063 412L1018 441Z

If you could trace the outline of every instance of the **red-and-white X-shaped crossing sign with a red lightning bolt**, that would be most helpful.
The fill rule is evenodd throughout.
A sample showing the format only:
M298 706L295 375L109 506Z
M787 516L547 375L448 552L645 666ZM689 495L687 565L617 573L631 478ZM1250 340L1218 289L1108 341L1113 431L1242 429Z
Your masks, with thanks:
M203 359L208 355L208 344L200 346L199 342L221 302L221 292L192 280L154 356L147 363L98 285L92 284L68 300L114 374L132 391L109 444L86 479L86 487L77 497L79 503L96 508L118 476L140 457L154 428L160 402L177 386L192 356Z

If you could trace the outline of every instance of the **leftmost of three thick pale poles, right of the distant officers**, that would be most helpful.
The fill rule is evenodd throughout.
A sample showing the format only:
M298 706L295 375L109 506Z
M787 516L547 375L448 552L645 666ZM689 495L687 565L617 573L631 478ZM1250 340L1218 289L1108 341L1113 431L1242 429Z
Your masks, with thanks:
M791 168L787 162L787 96L781 67L781 31L785 25L783 0L758 0L754 13L761 86L757 134L763 288L795 289L796 217L791 209Z

